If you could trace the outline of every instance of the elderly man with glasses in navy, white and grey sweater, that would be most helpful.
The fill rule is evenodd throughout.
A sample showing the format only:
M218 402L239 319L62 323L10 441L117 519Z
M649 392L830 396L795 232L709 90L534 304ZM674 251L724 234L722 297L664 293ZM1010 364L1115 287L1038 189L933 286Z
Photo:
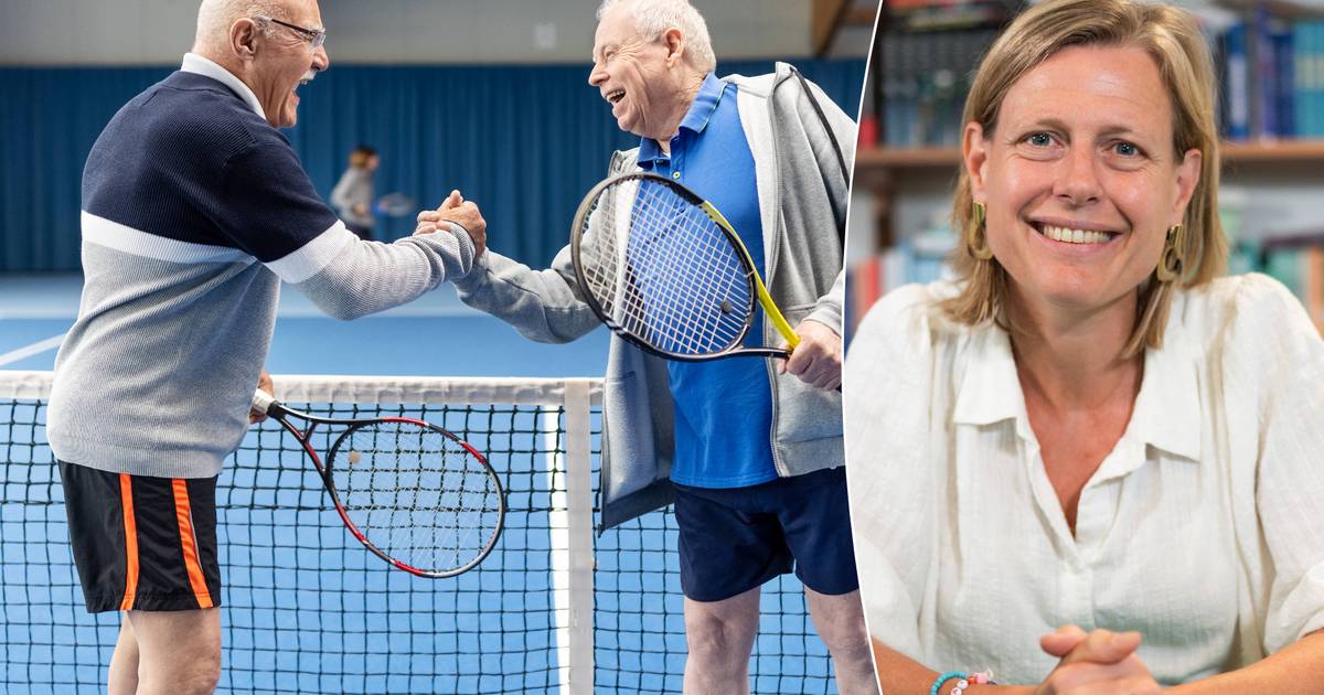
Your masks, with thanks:
M486 222L458 192L395 244L355 237L289 140L330 65L315 0L203 0L183 66L87 156L81 311L56 360L60 461L89 612L123 612L111 694L220 679L216 479L244 438L281 281L350 319L469 273ZM267 384L267 388L269 384Z

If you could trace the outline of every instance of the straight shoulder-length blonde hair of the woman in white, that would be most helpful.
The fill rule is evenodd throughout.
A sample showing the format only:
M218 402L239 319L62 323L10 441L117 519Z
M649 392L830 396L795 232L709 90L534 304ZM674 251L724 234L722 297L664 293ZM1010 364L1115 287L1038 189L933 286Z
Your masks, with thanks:
M1227 259L1227 241L1218 220L1214 69L1194 19L1184 9L1133 0L1049 0L1037 5L1017 17L984 57L965 101L963 123L978 123L988 139L997 128L998 107L1012 85L1057 52L1083 45L1133 46L1148 53L1172 97L1173 150L1178 158L1188 150L1202 155L1200 181L1182 218L1180 277L1158 282L1151 274L1141 285L1140 311L1124 351L1133 356L1162 344L1173 286L1209 282L1223 271ZM941 308L959 323L992 320L1010 330L1006 270L996 258L976 258L965 241L973 205L970 177L963 167L952 201L952 226L963 240L952 254L960 293Z

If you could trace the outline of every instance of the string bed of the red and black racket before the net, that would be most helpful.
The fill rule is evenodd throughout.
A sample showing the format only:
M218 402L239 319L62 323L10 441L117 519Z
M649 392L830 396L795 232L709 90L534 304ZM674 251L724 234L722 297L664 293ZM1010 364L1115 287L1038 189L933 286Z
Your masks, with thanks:
M340 503L359 531L417 569L465 567L498 528L496 481L462 445L434 429L412 422L356 428L331 466Z

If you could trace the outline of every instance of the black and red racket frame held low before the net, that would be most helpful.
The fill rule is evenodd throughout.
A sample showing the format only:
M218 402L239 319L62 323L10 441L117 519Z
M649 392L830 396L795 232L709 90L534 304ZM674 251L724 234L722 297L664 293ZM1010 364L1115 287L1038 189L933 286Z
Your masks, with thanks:
M303 453L307 454L308 459L312 461L312 467L316 469L318 477L322 478L322 486L326 488L327 495L331 496L331 503L335 506L336 514L340 515L340 522L350 531L350 535L352 535L359 543L363 544L364 548L371 551L373 555L385 560L389 565L409 572L410 575L418 577L426 577L426 579L454 577L457 575L463 575L465 572L469 572L470 569L478 567L478 564L482 563L485 559L487 559L487 556L493 552L493 548L496 547L496 540L500 539L500 532L506 527L506 488L500 485L500 477L496 475L496 471L487 462L487 457L485 457L482 453L474 449L473 445L461 440L450 430L433 425L432 422L424 420L416 420L412 417L388 416L388 417L369 417L369 418L356 420L356 418L315 416L311 413L305 413L302 410L295 410L293 408L289 408L287 405L275 400L270 393L262 392L261 389L257 392L257 396L254 397L253 402L256 410L261 410L267 416L275 418L275 421L279 422L281 426L286 429L286 432L294 436L294 438L299 442L299 446L303 447ZM299 420L307 421L308 426L301 430L298 426L295 426L293 422L289 421L289 416L294 416L298 417ZM331 466L332 463L335 463L336 453L339 451L340 445L350 437L350 434L352 434L357 429L361 429L368 425L375 425L379 422L402 422L409 425L418 425L424 429L429 429L432 432L436 432L446 437L448 440L462 446L465 451L469 453L469 455L474 457L474 459L477 459L482 465L483 470L487 473L487 477L493 481L493 485L496 486L496 528L493 531L491 536L489 536L487 543L478 552L478 555L469 563L458 568L448 569L444 572L420 569L408 563L397 560L391 555L388 555L381 548L377 548L371 540L368 540L368 536L359 530L359 526L355 524L352 519L350 519L348 512L344 510L344 504L340 502L340 494L335 488L335 482L332 481L331 477ZM310 442L310 440L312 438L312 433L314 430L316 430L318 425L344 425L348 428L347 430L340 433L340 436L336 437L335 442L331 445L326 462L322 461L322 457L318 455L316 449L314 449L312 443Z

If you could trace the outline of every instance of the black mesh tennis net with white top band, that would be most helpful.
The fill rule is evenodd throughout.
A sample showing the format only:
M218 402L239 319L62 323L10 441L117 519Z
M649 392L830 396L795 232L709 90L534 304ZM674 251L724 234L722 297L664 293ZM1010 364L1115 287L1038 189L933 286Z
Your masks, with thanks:
M45 443L49 389L49 372L0 372L0 690L94 692L120 618L83 609ZM681 691L670 510L593 532L596 380L285 377L277 396L316 414L450 429L502 477L506 530L459 577L391 569L340 526L298 442L254 426L217 488L221 691ZM751 687L835 691L790 576L764 586Z

